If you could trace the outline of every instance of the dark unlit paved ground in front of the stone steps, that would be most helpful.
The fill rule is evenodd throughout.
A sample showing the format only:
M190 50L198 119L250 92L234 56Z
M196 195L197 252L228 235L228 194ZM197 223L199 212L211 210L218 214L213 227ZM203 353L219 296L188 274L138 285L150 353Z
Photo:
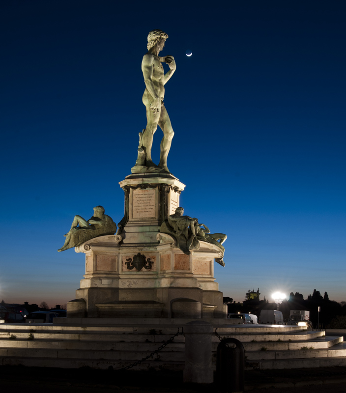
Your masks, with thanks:
M218 392L215 384L184 385L182 372L0 366L1 392L125 393ZM245 372L245 392L345 393L346 367Z

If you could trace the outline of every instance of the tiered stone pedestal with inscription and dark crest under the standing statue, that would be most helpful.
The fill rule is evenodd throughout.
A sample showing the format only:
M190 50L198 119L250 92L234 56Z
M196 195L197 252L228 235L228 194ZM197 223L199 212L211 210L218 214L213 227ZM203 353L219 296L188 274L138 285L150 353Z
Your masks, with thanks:
M220 249L200 242L190 255L160 226L179 206L184 185L171 174L136 174L119 183L125 215L116 235L76 247L86 274L67 304L68 317L226 318L213 278Z

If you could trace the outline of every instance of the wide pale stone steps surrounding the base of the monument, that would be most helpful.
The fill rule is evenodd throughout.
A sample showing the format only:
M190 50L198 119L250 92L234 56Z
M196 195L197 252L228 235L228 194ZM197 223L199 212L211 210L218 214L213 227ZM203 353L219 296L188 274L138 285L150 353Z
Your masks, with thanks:
M179 330L173 342L132 369L183 370L185 338L181 333L189 321L140 322L124 319L118 320L116 326L0 324L0 365L120 369L155 352ZM346 365L343 337L327 337L324 332L307 332L296 326L226 325L225 320L211 323L221 337L234 337L242 342L248 368ZM214 369L219 342L213 335Z

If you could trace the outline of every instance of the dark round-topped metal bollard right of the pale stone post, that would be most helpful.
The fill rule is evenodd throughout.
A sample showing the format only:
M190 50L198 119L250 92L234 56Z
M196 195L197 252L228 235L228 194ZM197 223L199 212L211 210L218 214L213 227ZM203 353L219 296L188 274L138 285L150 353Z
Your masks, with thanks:
M233 345L229 345L233 344ZM224 338L216 350L219 392L244 392L245 349L236 338Z

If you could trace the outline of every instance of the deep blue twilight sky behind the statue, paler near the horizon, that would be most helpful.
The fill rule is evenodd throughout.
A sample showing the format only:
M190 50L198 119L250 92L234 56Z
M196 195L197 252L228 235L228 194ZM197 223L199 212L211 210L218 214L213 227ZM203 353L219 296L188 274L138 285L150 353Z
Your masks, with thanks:
M160 28L177 64L168 165L185 214L228 234L220 289L345 301L345 1L118 3L0 2L0 298L75 298L84 254L57 249L75 214L123 216Z

